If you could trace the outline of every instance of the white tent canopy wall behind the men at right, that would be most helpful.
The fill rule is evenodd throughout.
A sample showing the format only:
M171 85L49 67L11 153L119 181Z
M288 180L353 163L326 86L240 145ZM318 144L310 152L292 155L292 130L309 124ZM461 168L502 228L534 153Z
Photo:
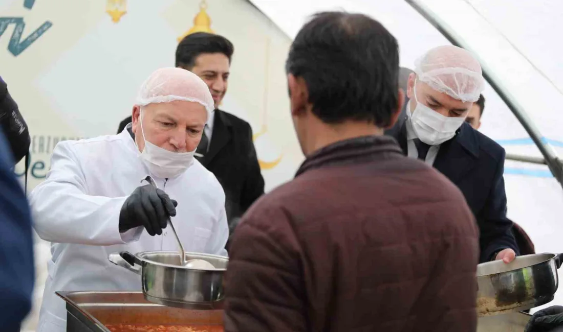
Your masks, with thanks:
M430 11L477 55L490 76L538 128L548 149L561 154L563 119L563 2L559 0L410 0ZM310 15L325 10L374 17L399 40L401 66L448 39L403 0L251 0L290 38ZM530 135L489 85L481 131L507 153L542 157ZM524 227L537 252L561 252L563 190L547 166L507 161L508 216ZM556 296L563 303L563 294Z

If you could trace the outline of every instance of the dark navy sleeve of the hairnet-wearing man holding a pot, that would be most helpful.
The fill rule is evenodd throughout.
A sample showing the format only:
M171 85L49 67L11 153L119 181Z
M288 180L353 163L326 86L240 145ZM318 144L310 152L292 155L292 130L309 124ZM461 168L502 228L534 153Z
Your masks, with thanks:
M512 221L506 217L506 191L504 190L504 156L498 162L493 178L493 185L481 215L477 217L481 231L480 262L493 260L495 254L502 249L513 249L520 254L516 240L512 234Z

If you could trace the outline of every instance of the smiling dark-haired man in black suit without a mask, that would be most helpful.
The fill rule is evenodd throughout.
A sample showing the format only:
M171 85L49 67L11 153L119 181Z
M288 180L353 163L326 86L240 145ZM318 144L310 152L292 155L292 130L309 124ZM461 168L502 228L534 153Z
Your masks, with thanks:
M225 208L233 234L240 216L264 193L264 179L248 122L219 110L229 81L233 44L220 35L187 35L176 48L176 67L198 75L209 87L215 112L205 125L196 158L215 174L225 190ZM118 133L131 122L123 120ZM227 243L228 245L228 243Z

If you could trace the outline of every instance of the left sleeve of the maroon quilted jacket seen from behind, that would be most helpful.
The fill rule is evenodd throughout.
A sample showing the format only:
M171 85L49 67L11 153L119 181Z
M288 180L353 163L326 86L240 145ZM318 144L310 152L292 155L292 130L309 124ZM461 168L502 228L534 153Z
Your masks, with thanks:
M282 211L252 215L243 217L231 244L225 331L306 331L301 254L291 225Z

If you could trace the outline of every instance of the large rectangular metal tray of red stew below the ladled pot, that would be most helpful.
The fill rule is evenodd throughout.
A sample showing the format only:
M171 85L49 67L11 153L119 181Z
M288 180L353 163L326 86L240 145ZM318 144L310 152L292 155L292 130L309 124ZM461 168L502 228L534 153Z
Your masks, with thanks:
M106 325L222 325L221 304L192 309L148 302L141 292L57 292L66 301L67 332L110 332Z

